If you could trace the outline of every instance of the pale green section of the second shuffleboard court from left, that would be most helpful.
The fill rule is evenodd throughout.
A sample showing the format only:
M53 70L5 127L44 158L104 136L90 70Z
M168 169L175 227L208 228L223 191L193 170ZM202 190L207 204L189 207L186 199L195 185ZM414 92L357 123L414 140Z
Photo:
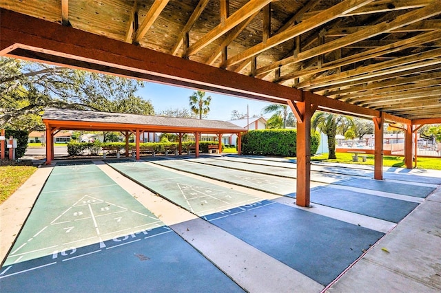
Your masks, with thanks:
M259 200L258 197L232 191L230 188L210 184L145 162L106 163L154 193L198 216Z

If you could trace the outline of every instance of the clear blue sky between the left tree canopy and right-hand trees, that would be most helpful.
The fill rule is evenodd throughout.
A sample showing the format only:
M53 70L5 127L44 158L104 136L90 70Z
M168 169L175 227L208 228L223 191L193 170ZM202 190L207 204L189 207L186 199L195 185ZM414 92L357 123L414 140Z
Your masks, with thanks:
M158 83L145 83L145 87L139 89L136 95L141 96L145 100L150 100L156 113L166 109L189 109L188 97L192 96L195 89L187 89L184 87L172 87L170 85L161 85ZM267 102L257 100L249 100L246 98L238 98L234 96L225 96L208 92L205 96L212 96L210 103L210 111L207 119L212 120L230 120L232 111L237 110L240 113L247 113L247 105L249 105L249 116L254 114L260 116L262 109L269 105ZM271 116L266 114L265 117Z

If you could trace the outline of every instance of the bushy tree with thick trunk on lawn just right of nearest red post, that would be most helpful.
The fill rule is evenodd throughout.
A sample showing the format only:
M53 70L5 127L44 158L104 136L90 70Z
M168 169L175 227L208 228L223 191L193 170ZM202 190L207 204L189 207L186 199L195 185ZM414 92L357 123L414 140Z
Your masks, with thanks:
M349 127L348 127L349 126ZM355 127L349 116L336 115L333 113L317 112L311 119L311 129L319 129L328 136L328 159L336 159L336 134L343 129Z

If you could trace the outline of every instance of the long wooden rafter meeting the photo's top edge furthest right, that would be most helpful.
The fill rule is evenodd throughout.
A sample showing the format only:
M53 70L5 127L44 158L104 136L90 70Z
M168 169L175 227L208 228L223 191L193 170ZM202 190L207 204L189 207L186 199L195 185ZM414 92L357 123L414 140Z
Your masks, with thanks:
M328 23L329 21L337 19L338 17L342 17L348 12L365 6L367 3L370 3L372 1L373 0L345 0L342 3L338 3L337 5L332 6L331 8L323 12L320 12L316 15L316 17L309 18L279 34L271 36L271 38L267 39L265 43L259 43L257 45L254 45L254 47L250 47L244 52L236 54L236 56L229 58L223 66L229 67L240 63L241 61L244 61L249 57L260 54L261 52L264 52L271 47L274 47L276 45L279 45L280 43L294 38L295 36L308 32L309 30L313 30L314 28L318 28L320 25ZM256 72L256 74L260 73L263 72Z

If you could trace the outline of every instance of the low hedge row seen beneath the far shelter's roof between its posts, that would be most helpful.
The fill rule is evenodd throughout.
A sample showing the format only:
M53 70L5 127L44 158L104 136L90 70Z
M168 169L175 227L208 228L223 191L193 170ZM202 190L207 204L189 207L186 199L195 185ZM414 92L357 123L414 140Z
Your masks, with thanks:
M208 145L214 144L218 145L218 142L199 142L199 151L201 153L208 153ZM123 150L125 149L125 142L76 142L72 141L68 144L68 154L69 155L82 155L84 153L90 153L91 155L98 155L101 153L101 148L103 146L118 146L119 149ZM176 149L178 149L178 142L143 142L139 144L140 146L154 146L154 150L156 153L164 153L165 152L165 146L176 146ZM194 142L183 142L182 148L183 151L187 151L188 146L194 145ZM131 142L129 144L129 149L134 148L135 144ZM224 146L222 145L222 149Z

